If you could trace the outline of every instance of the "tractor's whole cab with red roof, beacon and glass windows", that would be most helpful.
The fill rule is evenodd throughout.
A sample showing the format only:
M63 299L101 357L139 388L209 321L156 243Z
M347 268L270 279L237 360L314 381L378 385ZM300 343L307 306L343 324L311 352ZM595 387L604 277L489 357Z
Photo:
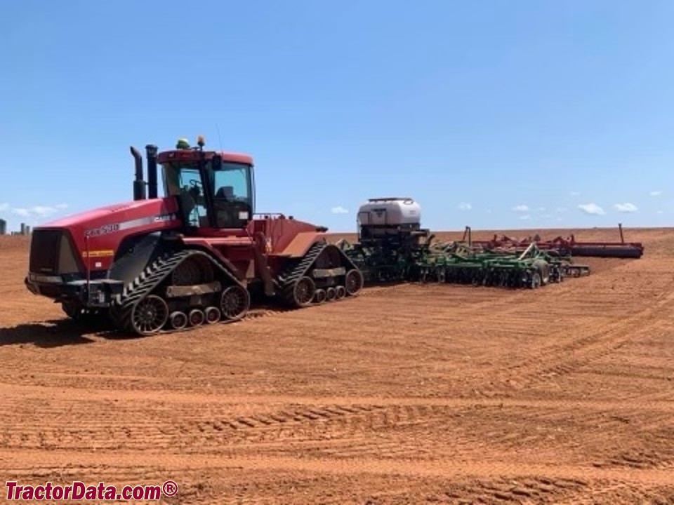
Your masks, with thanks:
M180 139L176 149L161 152L166 196L178 200L187 230L244 229L253 218L253 160L243 154L204 151Z

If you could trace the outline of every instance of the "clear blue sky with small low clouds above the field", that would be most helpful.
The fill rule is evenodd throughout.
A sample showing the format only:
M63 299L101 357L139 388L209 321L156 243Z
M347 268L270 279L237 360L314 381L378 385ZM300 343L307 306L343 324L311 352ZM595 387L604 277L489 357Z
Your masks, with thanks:
M256 160L260 212L355 230L669 226L670 1L25 0L0 18L0 217L131 199L130 144Z

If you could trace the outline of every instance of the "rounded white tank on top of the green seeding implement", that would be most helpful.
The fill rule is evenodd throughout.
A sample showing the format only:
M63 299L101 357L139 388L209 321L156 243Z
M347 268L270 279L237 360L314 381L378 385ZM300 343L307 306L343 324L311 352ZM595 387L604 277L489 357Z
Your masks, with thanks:
M370 198L358 209L358 227L417 228L421 206L412 198Z

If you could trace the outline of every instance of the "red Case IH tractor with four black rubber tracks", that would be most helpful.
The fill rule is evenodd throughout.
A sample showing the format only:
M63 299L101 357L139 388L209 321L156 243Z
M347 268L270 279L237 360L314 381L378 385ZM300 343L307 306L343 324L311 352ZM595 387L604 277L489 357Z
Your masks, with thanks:
M362 289L326 228L255 213L250 156L197 146L147 145L147 183L131 147L133 201L35 227L27 288L72 318L107 314L138 335L237 321L258 299L306 307Z

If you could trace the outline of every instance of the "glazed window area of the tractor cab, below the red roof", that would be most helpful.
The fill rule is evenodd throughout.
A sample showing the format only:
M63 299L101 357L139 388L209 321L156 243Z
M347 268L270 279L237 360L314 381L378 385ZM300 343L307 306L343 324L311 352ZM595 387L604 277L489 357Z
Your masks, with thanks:
M253 175L250 165L223 161L164 163L167 196L177 196L188 227L244 228L253 216Z

